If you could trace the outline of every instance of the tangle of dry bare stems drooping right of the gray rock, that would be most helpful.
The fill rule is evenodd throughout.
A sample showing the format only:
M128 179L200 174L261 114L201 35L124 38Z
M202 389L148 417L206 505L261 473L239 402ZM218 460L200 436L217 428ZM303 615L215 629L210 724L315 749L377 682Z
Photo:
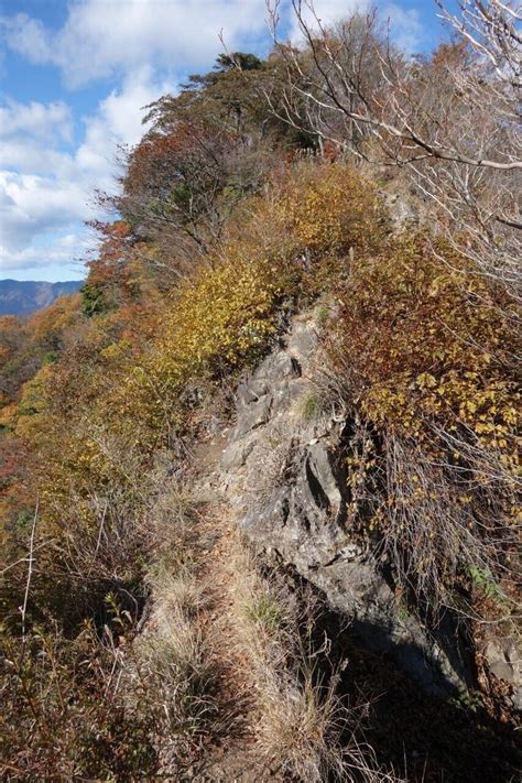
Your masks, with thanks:
M479 586L497 602L497 615L508 615L514 606L501 585L513 586L513 574L502 555L516 546L518 531L502 519L500 482L479 486L478 507L471 503L478 492L469 467L464 475L458 466L442 465L393 436L384 447L393 503L382 522L379 548L391 558L401 587L435 613L450 607L474 618L472 587ZM466 581L471 583L470 594L457 592L456 586Z

